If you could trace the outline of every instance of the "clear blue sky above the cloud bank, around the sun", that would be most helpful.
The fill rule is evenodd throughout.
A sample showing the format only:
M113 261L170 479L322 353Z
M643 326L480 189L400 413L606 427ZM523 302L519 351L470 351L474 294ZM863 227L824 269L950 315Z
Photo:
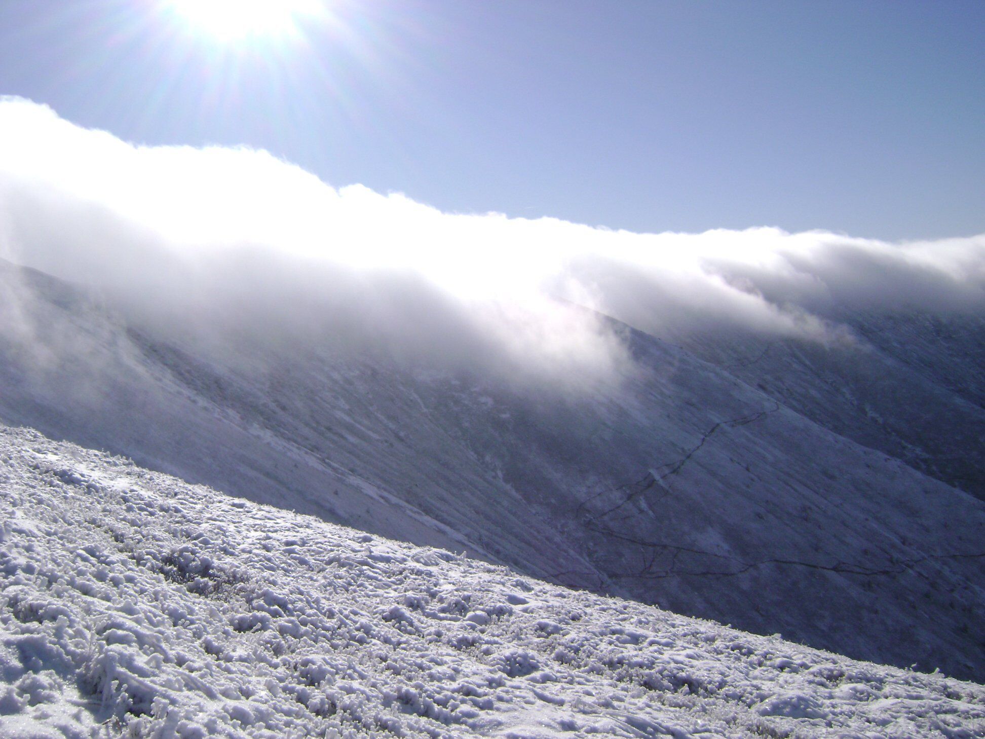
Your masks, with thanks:
M157 0L4 0L0 94L445 211L985 232L980 0L328 5L296 38L223 41Z

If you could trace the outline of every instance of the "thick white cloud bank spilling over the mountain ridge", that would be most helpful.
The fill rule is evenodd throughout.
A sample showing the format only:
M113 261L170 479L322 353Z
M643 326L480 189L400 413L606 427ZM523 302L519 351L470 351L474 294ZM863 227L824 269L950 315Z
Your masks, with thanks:
M0 255L175 331L376 340L538 372L626 361L579 305L653 332L815 340L843 311L985 306L985 235L632 234L448 214L264 152L134 146L19 99L0 100Z

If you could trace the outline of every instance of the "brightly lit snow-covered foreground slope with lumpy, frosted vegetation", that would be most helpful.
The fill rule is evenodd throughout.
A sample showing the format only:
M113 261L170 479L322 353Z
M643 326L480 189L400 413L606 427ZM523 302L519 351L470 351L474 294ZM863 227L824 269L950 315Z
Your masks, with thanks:
M0 735L926 736L985 689L0 428Z

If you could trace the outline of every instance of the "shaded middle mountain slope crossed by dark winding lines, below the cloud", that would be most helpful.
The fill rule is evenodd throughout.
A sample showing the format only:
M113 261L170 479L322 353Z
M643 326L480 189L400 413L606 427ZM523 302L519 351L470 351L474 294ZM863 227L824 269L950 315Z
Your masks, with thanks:
M985 674L985 504L798 413L803 395L627 329L634 370L577 391L317 347L221 354L18 277L10 423L562 584Z

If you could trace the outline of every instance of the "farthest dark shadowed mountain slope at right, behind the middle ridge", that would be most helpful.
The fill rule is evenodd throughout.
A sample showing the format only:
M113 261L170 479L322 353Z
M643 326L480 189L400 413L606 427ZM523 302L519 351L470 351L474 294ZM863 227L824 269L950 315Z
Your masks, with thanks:
M985 499L985 321L912 310L838 317L852 341L742 331L678 340L836 434Z

